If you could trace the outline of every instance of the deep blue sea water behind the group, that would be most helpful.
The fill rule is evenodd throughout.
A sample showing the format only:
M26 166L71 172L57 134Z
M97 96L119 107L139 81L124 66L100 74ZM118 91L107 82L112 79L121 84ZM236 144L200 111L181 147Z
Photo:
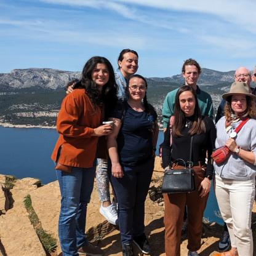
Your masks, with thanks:
M14 175L17 178L39 178L42 184L57 180L54 162L50 155L58 139L55 129L6 128L0 126L0 174ZM159 132L158 145L164 140ZM210 191L204 217L210 222L222 224L213 188Z

